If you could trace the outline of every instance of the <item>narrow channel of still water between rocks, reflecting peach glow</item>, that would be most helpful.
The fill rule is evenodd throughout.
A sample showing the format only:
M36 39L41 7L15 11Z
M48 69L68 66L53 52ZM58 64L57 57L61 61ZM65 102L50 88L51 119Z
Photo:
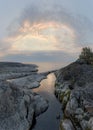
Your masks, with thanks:
M55 75L49 74L47 79L41 82L40 87L33 90L49 102L48 110L36 118L33 130L59 130L60 119L57 118L59 114L62 115L62 110L61 104L54 95L55 80Z

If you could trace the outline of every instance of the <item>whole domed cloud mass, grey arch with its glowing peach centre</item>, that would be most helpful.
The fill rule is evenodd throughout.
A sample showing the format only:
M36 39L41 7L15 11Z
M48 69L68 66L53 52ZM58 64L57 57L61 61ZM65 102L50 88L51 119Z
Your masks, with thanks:
M2 50L11 54L43 50L77 53L81 47L91 46L93 23L84 16L72 14L62 2L31 0L7 28L8 36L4 44L0 43Z

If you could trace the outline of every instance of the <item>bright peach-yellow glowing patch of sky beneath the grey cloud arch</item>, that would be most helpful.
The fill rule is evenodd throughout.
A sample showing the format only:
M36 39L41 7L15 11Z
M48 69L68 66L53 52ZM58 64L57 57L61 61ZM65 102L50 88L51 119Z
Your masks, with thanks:
M55 22L30 25L28 21L19 29L14 38L13 51L62 50L73 52L76 48L75 32L66 25Z

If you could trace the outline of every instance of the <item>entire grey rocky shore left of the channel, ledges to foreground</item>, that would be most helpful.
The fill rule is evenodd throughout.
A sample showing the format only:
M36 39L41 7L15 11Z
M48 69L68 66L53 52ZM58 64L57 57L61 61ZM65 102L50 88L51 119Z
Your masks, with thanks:
M32 92L47 73L36 65L0 62L0 130L30 130L36 116L46 111L48 101Z

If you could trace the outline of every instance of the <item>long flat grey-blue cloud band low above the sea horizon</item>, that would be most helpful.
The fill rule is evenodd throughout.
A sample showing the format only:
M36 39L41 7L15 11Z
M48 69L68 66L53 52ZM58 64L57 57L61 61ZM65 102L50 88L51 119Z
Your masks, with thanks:
M4 61L19 61L19 62L70 62L77 58L77 54L70 55L61 51L46 51L46 52L23 52L19 54L9 54L3 57Z

